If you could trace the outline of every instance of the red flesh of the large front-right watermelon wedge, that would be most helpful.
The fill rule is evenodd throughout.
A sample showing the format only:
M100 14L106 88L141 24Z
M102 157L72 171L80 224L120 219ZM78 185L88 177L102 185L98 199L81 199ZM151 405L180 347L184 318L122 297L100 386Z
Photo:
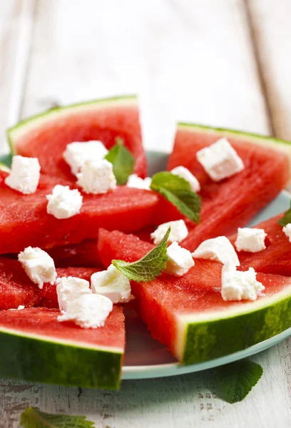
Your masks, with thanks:
M126 245L127 243L128 245ZM101 258L105 265L116 258L128 262L138 260L148 252L148 245L133 236L116 231L101 230L98 240ZM200 322L200 318L203 320L208 314L210 318L218 317L219 319L220 313L225 311L230 311L230 314L237 310L243 312L244 307L246 310L250 307L250 311L252 311L254 302L225 302L223 300L220 294L221 269L220 263L197 259L195 266L183 277L163 274L150 282L132 282L131 284L133 295L138 302L139 312L151 334L155 339L165 343L178 360L184 360L186 350L181 343L184 335L187 334L187 323L191 318L196 317L195 322ZM264 302L267 302L267 300L263 300L264 298L272 298L278 292L285 292L285 288L290 287L291 284L290 277L265 273L257 273L257 280L265 285L264 294L258 296L255 301L255 305L258 306L261 304L260 300L263 305ZM233 315L230 315L230 318L231 316ZM206 332L207 330L205 330L205 334ZM203 349L201 349L199 352L203 353ZM200 358L203 358L201 354ZM208 358L205 357L205 359Z

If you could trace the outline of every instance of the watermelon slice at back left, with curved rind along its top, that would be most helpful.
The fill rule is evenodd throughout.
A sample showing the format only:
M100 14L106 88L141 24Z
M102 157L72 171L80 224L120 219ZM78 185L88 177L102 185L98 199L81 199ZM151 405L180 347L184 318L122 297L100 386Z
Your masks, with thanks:
M134 172L146 177L146 155L141 141L138 100L123 96L53 108L33 116L8 131L11 153L39 158L41 172L76 180L63 160L73 141L100 140L110 149L116 137L136 159Z

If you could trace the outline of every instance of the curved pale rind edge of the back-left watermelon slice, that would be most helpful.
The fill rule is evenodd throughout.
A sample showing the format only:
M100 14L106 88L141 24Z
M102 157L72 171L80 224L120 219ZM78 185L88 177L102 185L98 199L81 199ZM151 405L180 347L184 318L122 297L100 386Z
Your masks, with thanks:
M17 123L16 126L12 126L7 130L7 138L11 149L11 155L14 156L17 154L17 150L14 143L16 138L21 136L22 133L29 132L32 129L37 130L37 128L41 127L44 122L50 121L54 117L60 117L61 113L66 115L71 112L76 112L78 110L84 111L86 108L90 110L91 108L95 109L97 107L107 108L113 106L131 106L136 105L137 103L138 97L136 95L116 96L113 98L102 98L98 100L70 104L68 106L51 108L48 111L44 111L43 113L31 116L27 119L24 119L24 121Z

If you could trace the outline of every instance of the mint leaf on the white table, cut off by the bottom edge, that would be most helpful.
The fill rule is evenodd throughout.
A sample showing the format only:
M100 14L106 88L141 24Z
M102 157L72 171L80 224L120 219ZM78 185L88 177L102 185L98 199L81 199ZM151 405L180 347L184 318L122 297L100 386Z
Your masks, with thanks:
M21 413L20 426L24 428L92 428L95 425L87 421L85 416L48 414L29 406Z

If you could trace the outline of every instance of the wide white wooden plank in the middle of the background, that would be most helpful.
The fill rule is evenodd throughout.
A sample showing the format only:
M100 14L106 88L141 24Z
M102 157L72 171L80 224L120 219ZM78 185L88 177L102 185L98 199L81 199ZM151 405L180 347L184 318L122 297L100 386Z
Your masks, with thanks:
M138 93L147 148L178 120L269 133L248 36L242 0L40 0L22 117Z

